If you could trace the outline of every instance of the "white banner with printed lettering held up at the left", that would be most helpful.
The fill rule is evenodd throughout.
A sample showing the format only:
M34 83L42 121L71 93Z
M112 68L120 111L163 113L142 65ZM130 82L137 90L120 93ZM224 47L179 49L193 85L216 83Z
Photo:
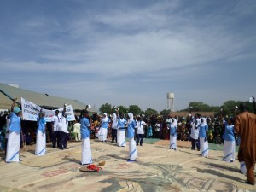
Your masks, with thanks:
M23 120L32 120L32 121L37 121L39 112L41 110L41 107L27 101L26 99L21 97L21 108L22 108L22 119ZM62 113L64 108L57 108L55 110L59 110L60 113ZM55 110L48 110L44 109L43 111L45 113L44 119L46 122L51 122L52 117L55 115ZM67 114L67 120L68 121L73 121L75 120L74 113L73 113L73 108L71 105L66 107L66 112Z

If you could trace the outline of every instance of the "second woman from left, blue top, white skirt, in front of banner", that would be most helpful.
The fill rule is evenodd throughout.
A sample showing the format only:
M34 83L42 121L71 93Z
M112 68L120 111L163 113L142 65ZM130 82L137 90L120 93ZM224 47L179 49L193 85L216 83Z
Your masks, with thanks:
M45 113L43 112L43 108L41 108L38 116L38 131L35 155L44 155L46 152L46 120L44 119L44 115Z

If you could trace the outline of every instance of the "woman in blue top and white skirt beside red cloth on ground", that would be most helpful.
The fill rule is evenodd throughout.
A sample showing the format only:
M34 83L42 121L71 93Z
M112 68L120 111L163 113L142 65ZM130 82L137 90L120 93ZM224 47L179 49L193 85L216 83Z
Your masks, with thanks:
M90 121L88 119L88 111L82 111L81 123L81 137L82 137L82 160L81 164L89 165L92 163L92 155L90 149Z

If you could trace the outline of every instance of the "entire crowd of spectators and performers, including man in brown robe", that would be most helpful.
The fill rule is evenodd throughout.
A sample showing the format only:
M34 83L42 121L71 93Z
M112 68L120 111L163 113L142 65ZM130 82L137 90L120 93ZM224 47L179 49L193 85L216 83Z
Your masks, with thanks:
M6 130L1 127L1 146L5 148L5 161L19 162L19 151L24 142L21 110L15 107L16 98L11 106L10 113L1 118L5 120ZM238 160L241 172L247 172L247 183L254 184L254 165L256 160L255 126L256 117L248 113L241 105L241 114L236 119L222 114L219 117L204 117L199 113L187 117L172 117L172 115L133 116L133 113L120 113L113 108L113 113L103 113L102 116L94 113L89 115L85 108L76 120L68 122L66 119L66 104L62 113L55 111L51 122L44 119L41 109L36 122L36 149L35 155L46 154L47 136L52 148L67 149L67 140L81 141L81 164L92 163L90 139L99 139L103 143L111 141L119 147L125 147L125 138L129 141L129 159L137 159L137 146L143 146L143 139L157 138L170 141L169 148L177 150L177 140L191 142L191 150L197 149L201 155L209 154L208 143L224 144L223 160L233 162L236 158L236 145L240 145ZM3 134L4 133L4 134ZM249 137L252 136L252 137ZM249 139L248 139L249 138Z

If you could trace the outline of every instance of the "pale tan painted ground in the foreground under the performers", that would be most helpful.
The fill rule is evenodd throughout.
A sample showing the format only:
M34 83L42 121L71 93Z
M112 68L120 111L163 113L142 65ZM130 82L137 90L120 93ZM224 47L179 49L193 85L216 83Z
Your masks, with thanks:
M0 191L256 191L245 183L239 163L227 163L221 151L203 158L178 142L177 151L168 141L138 146L137 162L127 162L128 146L91 140L93 163L105 160L100 172L81 172L81 143L69 149L48 147L48 154L35 156L35 146L20 150L20 163L0 161ZM3 156L3 153L2 153Z

